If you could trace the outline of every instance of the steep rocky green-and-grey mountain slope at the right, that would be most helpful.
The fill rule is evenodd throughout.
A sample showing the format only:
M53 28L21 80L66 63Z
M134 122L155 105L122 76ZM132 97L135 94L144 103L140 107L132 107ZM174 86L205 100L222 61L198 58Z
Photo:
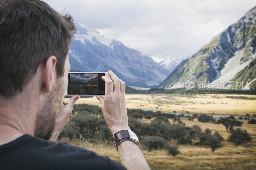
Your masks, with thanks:
M186 80L195 84L199 81L216 83L231 80L244 81L244 89L255 89L255 49L256 6L190 58L183 60L159 87L183 88Z

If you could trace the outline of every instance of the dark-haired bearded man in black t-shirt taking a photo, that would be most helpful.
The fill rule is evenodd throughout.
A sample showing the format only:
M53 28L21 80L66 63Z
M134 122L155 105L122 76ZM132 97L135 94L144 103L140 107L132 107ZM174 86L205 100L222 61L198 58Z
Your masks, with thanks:
M0 0L0 169L149 169L137 144L118 144L123 165L66 142L56 143L79 96L68 84L73 19L38 0ZM125 83L108 71L97 96L114 135L130 130ZM50 141L49 141L50 140Z

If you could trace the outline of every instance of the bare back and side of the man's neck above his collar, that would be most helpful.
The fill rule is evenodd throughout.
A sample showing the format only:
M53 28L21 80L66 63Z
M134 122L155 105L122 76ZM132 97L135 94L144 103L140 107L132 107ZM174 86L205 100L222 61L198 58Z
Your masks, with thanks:
M28 96L26 96L28 97ZM38 101L30 98L0 99L0 145L9 143L24 134L34 136Z

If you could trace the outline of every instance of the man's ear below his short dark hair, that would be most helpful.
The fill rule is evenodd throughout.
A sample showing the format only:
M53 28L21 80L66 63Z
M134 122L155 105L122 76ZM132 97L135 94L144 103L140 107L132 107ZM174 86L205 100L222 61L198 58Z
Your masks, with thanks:
M54 55L51 55L45 63L43 83L45 85L45 90L47 93L49 93L52 90L52 86L55 81L54 79L56 76L56 72L55 72L56 62L57 62L57 58Z

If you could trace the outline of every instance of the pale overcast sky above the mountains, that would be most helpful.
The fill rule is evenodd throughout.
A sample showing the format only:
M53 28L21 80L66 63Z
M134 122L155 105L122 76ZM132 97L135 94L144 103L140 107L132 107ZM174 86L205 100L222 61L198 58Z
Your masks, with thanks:
M157 57L191 55L256 0L43 0L75 22Z

